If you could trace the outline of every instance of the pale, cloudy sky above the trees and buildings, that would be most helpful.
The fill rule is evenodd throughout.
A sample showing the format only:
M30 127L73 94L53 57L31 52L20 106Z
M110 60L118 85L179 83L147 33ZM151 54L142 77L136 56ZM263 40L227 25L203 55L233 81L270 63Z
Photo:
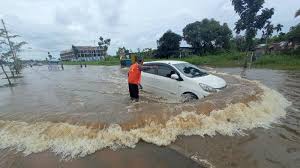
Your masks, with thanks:
M266 0L265 7L275 8L272 22L284 32L300 23L294 18L299 0ZM22 58L45 59L47 51L59 57L72 44L97 44L100 35L112 39L109 54L121 46L155 48L168 29L182 34L186 24L204 18L233 29L238 16L230 0L0 0L0 18L28 42Z

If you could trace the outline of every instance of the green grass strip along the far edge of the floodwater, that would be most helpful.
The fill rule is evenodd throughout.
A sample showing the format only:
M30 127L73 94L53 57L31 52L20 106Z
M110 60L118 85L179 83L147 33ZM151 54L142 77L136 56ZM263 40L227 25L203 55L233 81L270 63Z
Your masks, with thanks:
M195 65L206 65L211 67L242 67L244 65L246 53L228 52L215 55L189 56L182 59L170 58L171 60L186 61ZM160 59L145 58L145 61L155 61ZM64 62L65 65L79 65L79 62ZM118 57L110 57L105 61L88 61L87 65L120 65ZM271 54L264 55L256 60L252 67L300 70L300 55Z

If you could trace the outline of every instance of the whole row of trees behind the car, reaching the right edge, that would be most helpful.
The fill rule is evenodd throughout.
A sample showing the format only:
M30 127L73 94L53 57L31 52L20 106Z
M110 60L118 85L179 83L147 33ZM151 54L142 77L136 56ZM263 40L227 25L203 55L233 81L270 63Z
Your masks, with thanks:
M156 57L169 58L178 56L180 42L186 41L193 49L193 54L204 55L218 51L238 50L251 53L255 45L278 41L288 41L293 44L300 42L300 24L291 27L288 33L282 33L283 25L274 25L270 19L274 15L274 8L264 8L264 0L231 0L239 19L235 23L233 37L232 30L227 23L221 24L215 19L203 19L186 25L182 36L168 30L157 41ZM300 15L300 10L295 17ZM262 32L260 38L258 31ZM277 32L276 36L272 36ZM241 35L243 34L243 35Z

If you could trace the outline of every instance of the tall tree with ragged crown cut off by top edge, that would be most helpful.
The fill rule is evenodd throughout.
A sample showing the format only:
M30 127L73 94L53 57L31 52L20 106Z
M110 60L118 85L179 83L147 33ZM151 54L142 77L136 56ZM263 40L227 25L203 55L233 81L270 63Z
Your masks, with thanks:
M234 10L240 19L235 23L235 31L240 34L245 31L247 50L254 47L253 38L257 31L265 27L273 16L274 8L263 8L264 0L231 0Z

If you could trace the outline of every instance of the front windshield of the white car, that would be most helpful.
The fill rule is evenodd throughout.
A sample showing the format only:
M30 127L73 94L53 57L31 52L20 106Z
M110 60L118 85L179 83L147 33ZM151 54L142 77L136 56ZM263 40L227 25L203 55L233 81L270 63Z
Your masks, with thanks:
M195 65L189 63L174 64L174 66L185 76L190 78L201 77L208 75L205 70L199 69Z

